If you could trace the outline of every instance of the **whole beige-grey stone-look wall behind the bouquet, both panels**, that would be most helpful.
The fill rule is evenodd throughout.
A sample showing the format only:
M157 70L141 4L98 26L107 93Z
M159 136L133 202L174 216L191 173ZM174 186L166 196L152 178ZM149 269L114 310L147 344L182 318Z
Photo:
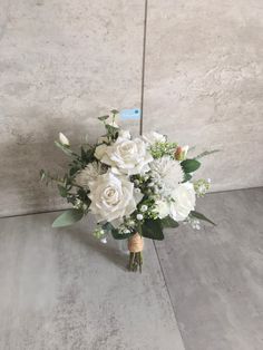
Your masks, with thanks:
M60 208L38 169L65 165L58 132L92 140L100 113L139 107L145 2L0 8L0 215ZM214 191L263 185L262 27L261 0L148 1L144 130L223 149L204 161Z

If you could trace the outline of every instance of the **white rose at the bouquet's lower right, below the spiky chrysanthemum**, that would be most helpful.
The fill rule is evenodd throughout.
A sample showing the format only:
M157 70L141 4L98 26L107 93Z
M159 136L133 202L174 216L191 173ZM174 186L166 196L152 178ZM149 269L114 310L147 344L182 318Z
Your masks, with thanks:
M179 184L172 192L172 198L174 202L171 202L169 215L175 221L184 221L189 215L189 212L195 208L195 189L193 184Z

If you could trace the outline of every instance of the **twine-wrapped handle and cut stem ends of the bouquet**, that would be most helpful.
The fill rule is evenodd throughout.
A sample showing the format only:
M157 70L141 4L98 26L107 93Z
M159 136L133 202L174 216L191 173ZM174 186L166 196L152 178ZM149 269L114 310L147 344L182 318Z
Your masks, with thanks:
M144 239L136 232L128 240L128 250L129 250L129 271L136 272L139 268L142 272L143 266L143 250L144 250Z

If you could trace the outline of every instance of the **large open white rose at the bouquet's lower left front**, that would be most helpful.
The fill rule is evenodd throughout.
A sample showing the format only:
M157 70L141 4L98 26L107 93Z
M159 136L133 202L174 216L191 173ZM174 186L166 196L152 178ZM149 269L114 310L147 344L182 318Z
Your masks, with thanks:
M90 210L98 222L121 220L136 210L134 184L111 172L100 175L89 185Z

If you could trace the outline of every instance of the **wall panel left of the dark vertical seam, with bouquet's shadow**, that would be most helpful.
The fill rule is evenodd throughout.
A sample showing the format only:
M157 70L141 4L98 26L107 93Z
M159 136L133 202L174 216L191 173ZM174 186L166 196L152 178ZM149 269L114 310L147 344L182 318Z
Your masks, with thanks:
M55 189L40 187L39 168L65 164L53 146L58 132L92 139L100 113L139 106L144 3L0 0L0 214L61 207Z

